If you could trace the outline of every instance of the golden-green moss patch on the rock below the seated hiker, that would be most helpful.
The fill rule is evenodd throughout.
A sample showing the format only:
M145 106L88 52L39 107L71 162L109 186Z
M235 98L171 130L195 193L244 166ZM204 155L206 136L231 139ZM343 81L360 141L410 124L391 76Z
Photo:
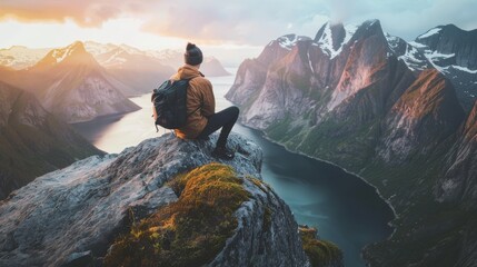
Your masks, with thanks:
M225 247L237 228L233 212L250 198L242 179L220 164L178 179L172 186L181 192L178 201L119 237L105 258L106 266L202 266Z

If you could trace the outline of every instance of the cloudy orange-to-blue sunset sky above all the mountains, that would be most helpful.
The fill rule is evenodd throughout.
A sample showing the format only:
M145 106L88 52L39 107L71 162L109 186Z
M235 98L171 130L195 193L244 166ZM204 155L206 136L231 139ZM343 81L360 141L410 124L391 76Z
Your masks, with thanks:
M0 0L0 48L64 47L76 40L256 57L270 40L314 37L327 21L379 19L413 40L439 24L477 29L477 0ZM227 56L228 55L228 56Z

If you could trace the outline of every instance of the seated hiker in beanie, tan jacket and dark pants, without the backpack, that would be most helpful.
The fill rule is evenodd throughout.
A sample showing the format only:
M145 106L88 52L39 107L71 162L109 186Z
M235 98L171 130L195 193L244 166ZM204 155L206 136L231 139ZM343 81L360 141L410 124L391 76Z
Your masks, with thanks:
M208 139L210 134L222 128L212 156L232 159L233 152L227 149L227 138L237 121L239 109L229 107L215 112L212 85L199 71L203 58L202 51L196 44L187 43L183 60L185 66L171 77L172 80L190 79L187 89L187 122L185 127L175 130L176 136L181 139Z

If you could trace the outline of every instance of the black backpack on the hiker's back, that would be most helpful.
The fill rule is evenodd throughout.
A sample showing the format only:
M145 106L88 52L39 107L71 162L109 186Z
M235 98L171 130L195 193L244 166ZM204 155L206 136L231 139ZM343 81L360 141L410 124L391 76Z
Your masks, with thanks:
M167 80L153 89L151 102L156 129L158 125L166 129L177 129L186 125L188 87L189 79Z

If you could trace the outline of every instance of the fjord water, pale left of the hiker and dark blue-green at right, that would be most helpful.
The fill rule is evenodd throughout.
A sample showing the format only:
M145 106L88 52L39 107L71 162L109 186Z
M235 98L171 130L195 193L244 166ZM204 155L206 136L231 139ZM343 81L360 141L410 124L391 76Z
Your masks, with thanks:
M235 73L235 70L229 70ZM223 98L233 76L210 79L217 110L231 103ZM98 148L120 152L123 148L166 132L156 132L150 96L131 98L143 107L136 112L108 116L74 125ZM262 178L290 206L300 225L318 228L320 238L337 244L345 254L345 266L364 267L361 248L387 238L392 211L376 190L342 169L305 156L291 154L268 141L261 132L236 125L233 131L247 136L264 149Z

